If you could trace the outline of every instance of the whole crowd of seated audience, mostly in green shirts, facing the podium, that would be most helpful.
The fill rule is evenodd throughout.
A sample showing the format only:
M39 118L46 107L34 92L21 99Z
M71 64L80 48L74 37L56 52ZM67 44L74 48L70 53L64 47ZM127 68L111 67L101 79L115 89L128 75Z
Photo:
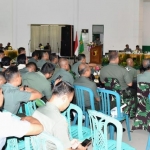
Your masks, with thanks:
M15 122L11 115L8 116L10 122L12 119L12 124L14 122L16 123L15 127L18 128L19 131L22 130L23 127L24 131L20 131L19 135L15 130L13 132L10 131L10 134L7 134L7 136L4 134L3 145L5 138L8 136L21 137L24 135L34 135L44 130L57 137L63 143L64 149L71 149L68 125L60 112L64 111L72 101L74 85L92 89L95 98L95 108L99 110L100 98L97 93L97 85L90 79L92 71L97 64L86 63L86 56L84 54L79 54L78 62L72 66L69 64L68 59L58 58L54 53L49 55L49 53L44 51L42 58L40 60L38 58L39 54L33 52L32 58L28 60L25 49L20 47L18 49L17 62L16 65L14 65L11 64L11 59L8 56L4 56L3 50L0 50L1 103L3 103L4 95L2 108L12 114L18 115L18 110L22 102L27 103L36 99L43 99L46 103L44 107L40 107L34 112L33 117L36 119L31 117L31 120L35 120L35 124L32 123L28 117ZM121 85L124 97L128 95L128 91L130 91L132 96L136 97L136 90L132 88L132 83L134 80L141 81L145 77L148 78L150 61L143 61L143 67L146 71L138 76L137 71L133 68L133 60L131 58L127 59L127 66L124 68L118 65L118 53L110 52L109 62L109 65L101 68L101 82L104 84L105 78L107 77L116 78ZM85 107L88 109L89 106L90 100L85 93ZM0 117L3 118L3 115L5 116L5 113L1 112ZM18 126L21 124L22 127L19 128ZM36 128L31 131L30 126L32 128L36 126ZM9 128L9 125L5 127L6 130L7 128ZM4 131L0 130L0 134ZM0 146L2 147L3 145ZM86 147L79 145L78 149L86 149Z

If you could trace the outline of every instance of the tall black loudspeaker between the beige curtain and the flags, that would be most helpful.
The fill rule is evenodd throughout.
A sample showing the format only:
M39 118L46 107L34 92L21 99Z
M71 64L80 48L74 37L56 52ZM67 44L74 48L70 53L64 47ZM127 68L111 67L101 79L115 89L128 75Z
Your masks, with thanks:
M61 56L73 56L73 26L61 28Z

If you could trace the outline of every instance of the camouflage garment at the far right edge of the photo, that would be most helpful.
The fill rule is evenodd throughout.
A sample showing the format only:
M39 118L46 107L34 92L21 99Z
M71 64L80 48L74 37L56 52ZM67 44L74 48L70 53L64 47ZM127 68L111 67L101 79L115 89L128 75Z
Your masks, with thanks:
M150 83L139 82L137 84L137 112L132 127L135 129L148 130L150 132L150 100L148 95L150 93Z

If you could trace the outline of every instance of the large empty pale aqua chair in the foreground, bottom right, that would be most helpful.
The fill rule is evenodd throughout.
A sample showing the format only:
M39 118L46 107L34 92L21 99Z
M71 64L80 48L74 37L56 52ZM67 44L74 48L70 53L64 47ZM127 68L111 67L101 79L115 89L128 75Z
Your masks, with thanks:
M93 131L93 150L135 150L122 142L122 125L118 120L95 110L88 110L88 113L91 130ZM107 127L110 123L117 128L116 141L108 140Z

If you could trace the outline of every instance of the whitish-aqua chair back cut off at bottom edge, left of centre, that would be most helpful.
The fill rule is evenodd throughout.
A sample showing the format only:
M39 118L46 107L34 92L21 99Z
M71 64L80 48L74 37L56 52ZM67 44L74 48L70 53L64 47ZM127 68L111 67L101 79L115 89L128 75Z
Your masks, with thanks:
M64 150L62 143L52 135L41 133L37 136L31 136L31 144L34 150L50 149L49 143L54 144L57 150Z

